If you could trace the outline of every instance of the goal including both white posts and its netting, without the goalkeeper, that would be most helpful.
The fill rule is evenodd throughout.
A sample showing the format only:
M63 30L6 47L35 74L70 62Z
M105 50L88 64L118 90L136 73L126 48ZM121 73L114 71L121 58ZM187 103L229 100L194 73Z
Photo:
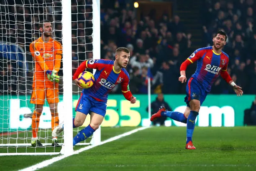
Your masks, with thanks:
M72 141L81 129L73 129L70 124L82 91L72 83L71 77L82 61L100 57L99 5L99 0L0 0L0 155L50 155L61 151L61 147L52 146L49 99L44 101L36 134L44 146L31 146L35 104L30 102L36 65L30 44L44 34L39 29L42 20L51 22L51 38L63 46L57 110L59 123L65 124L64 133L57 137L58 143L66 146L66 140ZM44 51L42 58L47 60L49 52ZM48 79L46 75L45 79ZM90 115L83 126L89 121ZM73 135L69 135L69 130L73 130ZM99 142L100 130L97 130L78 145ZM68 147L72 148L70 144Z

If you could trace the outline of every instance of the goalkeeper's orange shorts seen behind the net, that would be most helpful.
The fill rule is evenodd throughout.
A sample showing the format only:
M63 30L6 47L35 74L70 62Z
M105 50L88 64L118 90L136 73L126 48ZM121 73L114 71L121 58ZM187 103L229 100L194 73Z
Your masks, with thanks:
M49 104L59 103L59 88L34 87L32 90L30 103L43 105L45 99Z

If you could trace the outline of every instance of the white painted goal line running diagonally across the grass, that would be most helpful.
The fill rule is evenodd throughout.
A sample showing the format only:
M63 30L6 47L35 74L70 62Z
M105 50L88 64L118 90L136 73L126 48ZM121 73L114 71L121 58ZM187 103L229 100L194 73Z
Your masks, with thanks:
M107 139L107 140L105 140L105 141L102 141L102 142L100 142L100 143L97 144L97 145L92 145L92 146L87 146L87 147L84 147L84 148L80 148L79 150L74 151L74 153L72 153L72 154L70 154L70 155L57 156L57 157L51 158L51 159L49 159L49 160L42 161L41 163L37 163L37 164L35 164L35 165L33 165L33 166L20 169L19 171L35 171L35 170L37 170L37 169L39 169L39 168L43 168L43 167L49 166L50 164L52 164L52 163L54 163L54 162L56 162L56 161L62 160L63 158L66 158L66 157L68 157L68 156L72 156L72 155L74 155L74 154L81 153L82 151L89 150L89 149L94 148L94 147L96 147L96 146L100 146L100 145L102 145L102 144L105 144L105 143L108 143L108 142L111 142L111 141L115 141L115 140L117 140L117 139L119 139L119 138L122 138L122 137L125 137L125 136L129 136L129 135L131 135L132 133L136 133L136 132L141 131L141 130L144 130L144 129L146 129L146 128L150 128L150 127L136 128L136 129L134 129L134 130L132 130L132 131L129 131L129 132L120 134L120 135L118 135L118 136L114 136L114 137L112 137L112 138L109 138L109 139Z

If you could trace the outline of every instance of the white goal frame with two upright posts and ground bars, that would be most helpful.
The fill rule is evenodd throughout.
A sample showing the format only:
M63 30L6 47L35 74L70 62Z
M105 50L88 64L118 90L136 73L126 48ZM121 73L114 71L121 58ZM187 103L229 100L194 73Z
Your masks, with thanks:
M65 106L64 114L64 143L60 152L35 152L35 153L0 153L0 156L16 155L58 155L70 156L73 150L73 106L72 106L72 20L71 20L71 0L61 0L62 7L62 46L63 46L63 103ZM100 59L100 0L92 0L92 53L93 59ZM25 55L26 60L26 55ZM94 70L95 73L95 70ZM78 143L77 145L98 145L101 142L101 128L99 127L92 136L90 143ZM44 145L51 145L44 143ZM31 146L30 143L8 143L0 144L0 147L6 146Z

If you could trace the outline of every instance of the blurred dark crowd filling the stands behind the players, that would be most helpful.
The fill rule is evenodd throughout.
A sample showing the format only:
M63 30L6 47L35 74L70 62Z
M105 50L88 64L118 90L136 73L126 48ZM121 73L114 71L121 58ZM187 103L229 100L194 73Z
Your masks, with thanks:
M178 82L181 63L197 48L211 46L217 30L225 30L228 40L223 51L230 57L228 72L243 87L244 93L256 94L254 1L163 0L164 7L147 11L134 8L134 0L101 0L101 58L114 60L115 49L126 47L131 54L126 69L130 74L133 94L148 92L148 78L151 81L151 93L181 94L185 93L186 86ZM26 52L23 62L12 60L12 57L4 56L2 52L0 90L2 93L3 90L26 93L31 90L29 85L32 85L33 78L29 44L39 38L38 21L42 19L54 21L54 38L61 41L61 3L59 0L44 0L44 3L37 0L37 4L33 4L28 0L27 5L22 5L23 0L15 0L15 4L0 0L0 4L1 13L8 13L4 20L2 18L0 40L16 43L21 49L20 53ZM31 4L34 8L31 8ZM170 10L166 10L168 5ZM93 58L92 31L92 0L72 1L73 73L79 63ZM26 71L19 70L24 66ZM189 65L187 78L195 69L196 64ZM62 74L61 71L59 73ZM112 93L120 93L120 87L116 86ZM219 77L210 93L228 94L233 93L233 90Z

